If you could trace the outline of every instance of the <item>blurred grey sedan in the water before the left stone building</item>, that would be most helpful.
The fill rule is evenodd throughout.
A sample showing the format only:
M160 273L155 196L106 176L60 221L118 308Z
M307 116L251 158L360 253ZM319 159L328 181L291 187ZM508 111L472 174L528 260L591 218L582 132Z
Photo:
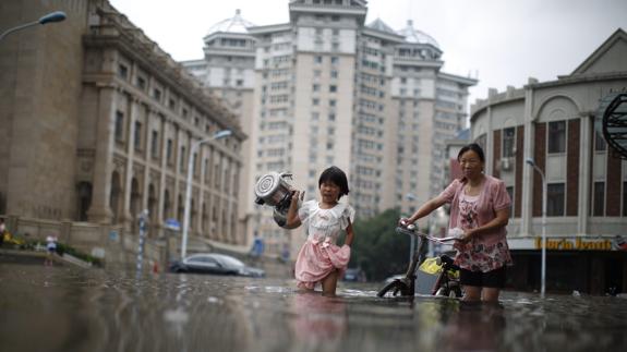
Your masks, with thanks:
M266 274L263 269L249 267L240 259L230 255L217 253L193 254L183 260L170 265L171 272L195 272L215 275L236 275L261 278Z

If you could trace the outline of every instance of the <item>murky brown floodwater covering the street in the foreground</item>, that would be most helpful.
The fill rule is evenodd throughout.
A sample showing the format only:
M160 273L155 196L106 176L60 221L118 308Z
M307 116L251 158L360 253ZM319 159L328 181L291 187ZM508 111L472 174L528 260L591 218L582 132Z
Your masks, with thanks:
M338 298L292 280L144 275L0 256L2 351L625 351L627 300Z

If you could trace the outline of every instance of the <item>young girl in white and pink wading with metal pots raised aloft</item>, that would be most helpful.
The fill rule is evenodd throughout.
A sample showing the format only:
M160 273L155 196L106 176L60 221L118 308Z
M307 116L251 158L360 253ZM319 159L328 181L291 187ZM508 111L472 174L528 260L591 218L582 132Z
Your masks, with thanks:
M298 199L301 193L294 192L286 227L293 229L304 223L308 234L296 263L298 287L313 290L319 282L323 295L333 296L337 280L350 259L354 209L348 204L338 203L349 192L346 174L339 168L330 167L324 170L318 187L321 201L305 202L300 208ZM346 242L339 247L336 241L341 230L346 231Z

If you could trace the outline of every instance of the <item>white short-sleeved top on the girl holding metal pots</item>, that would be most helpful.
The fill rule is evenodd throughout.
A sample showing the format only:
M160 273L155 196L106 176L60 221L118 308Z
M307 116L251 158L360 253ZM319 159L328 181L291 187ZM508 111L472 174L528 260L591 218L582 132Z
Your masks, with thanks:
M299 208L299 218L305 227L309 241L330 245L336 244L341 230L353 222L354 209L346 203L322 209L317 201L308 201Z

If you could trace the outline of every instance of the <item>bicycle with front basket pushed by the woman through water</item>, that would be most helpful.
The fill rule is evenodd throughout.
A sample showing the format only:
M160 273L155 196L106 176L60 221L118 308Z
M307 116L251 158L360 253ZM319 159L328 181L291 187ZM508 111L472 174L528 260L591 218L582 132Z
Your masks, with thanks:
M415 292L415 269L419 268L420 265L422 265L426 259L429 244L427 241L441 242L441 240L419 232L413 224L408 227L397 227L396 232L408 235L415 235L419 241L418 250L413 253L405 277L394 279L391 282L387 283L383 289L381 289L376 295L383 298L387 293L391 293L391 296L413 298ZM438 265L442 265L442 271L439 272L438 278L432 289L432 294L460 298L462 295L461 286L459 284L459 280L454 275L455 270L459 270L459 268L453 263L453 259L445 254L441 255L437 260L439 260Z

